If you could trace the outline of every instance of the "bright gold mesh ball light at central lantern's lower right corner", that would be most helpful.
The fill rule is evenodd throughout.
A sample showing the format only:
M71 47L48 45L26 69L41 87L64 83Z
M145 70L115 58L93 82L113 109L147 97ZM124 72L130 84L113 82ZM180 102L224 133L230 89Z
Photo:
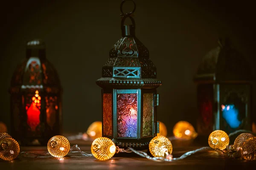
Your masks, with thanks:
M165 157L172 154L172 143L165 136L156 136L149 142L149 151L154 157Z

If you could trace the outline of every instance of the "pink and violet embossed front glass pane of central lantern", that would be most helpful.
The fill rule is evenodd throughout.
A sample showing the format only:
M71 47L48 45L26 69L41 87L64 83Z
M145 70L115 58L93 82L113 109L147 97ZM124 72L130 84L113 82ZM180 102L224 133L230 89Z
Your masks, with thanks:
M137 138L137 94L117 94L117 137Z

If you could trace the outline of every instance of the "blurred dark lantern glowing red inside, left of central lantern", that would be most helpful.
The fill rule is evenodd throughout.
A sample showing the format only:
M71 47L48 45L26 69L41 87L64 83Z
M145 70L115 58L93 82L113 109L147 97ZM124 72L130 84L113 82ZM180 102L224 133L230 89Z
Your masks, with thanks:
M17 66L11 87L11 133L24 145L43 144L61 133L61 85L46 59L45 44L26 44L26 59Z

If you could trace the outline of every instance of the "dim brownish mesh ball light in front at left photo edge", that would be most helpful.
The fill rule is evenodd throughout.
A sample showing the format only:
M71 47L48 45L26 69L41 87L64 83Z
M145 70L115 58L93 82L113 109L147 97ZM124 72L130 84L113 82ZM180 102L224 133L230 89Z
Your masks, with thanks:
M11 161L20 154L20 145L15 139L4 138L0 140L0 159Z

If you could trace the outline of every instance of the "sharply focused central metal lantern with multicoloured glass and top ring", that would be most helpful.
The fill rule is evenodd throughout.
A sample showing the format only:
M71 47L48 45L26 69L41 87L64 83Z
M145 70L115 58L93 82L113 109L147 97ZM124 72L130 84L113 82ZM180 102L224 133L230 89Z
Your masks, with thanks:
M122 5L125 0L121 3ZM134 2L134 1L133 1ZM135 21L122 12L120 38L109 52L96 84L102 88L102 135L120 148L145 149L157 135L156 67L148 49L135 37ZM130 18L132 25L124 25Z

